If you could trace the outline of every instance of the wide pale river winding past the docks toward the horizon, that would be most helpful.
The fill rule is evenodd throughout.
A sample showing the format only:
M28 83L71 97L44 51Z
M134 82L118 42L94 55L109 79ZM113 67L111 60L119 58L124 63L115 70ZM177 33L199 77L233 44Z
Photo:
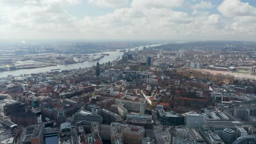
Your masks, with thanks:
M148 45L146 47L153 47L153 46L160 46L161 44L154 44L154 45ZM139 46L139 47L135 47L138 48L139 50L143 49L144 46ZM135 48L131 48L130 51L135 51ZM126 50L126 52L128 52L128 49ZM98 62L100 64L105 63L105 62L112 62L113 60L115 60L116 58L118 58L120 56L123 55L124 52L119 52L119 50L117 51L113 51L113 52L99 52L99 53L95 53L95 54L100 54L100 53L109 53L109 56L105 56L104 58L100 59ZM96 65L97 61L94 62L89 62L89 61L85 61L85 62L81 62L81 63L74 63L74 64L69 64L69 65L56 65L56 66L48 66L48 67L43 67L43 68L36 68L36 69L17 69L17 70L13 70L13 71L4 71L4 72L0 72L0 78L1 77L6 77L7 75L13 75L13 76L18 76L18 75L24 75L24 74L31 74L31 73L39 73L39 72L47 72L50 71L51 69L60 69L61 70L68 70L68 69L79 69L81 67L81 69L86 68L86 67L91 67L92 65Z

